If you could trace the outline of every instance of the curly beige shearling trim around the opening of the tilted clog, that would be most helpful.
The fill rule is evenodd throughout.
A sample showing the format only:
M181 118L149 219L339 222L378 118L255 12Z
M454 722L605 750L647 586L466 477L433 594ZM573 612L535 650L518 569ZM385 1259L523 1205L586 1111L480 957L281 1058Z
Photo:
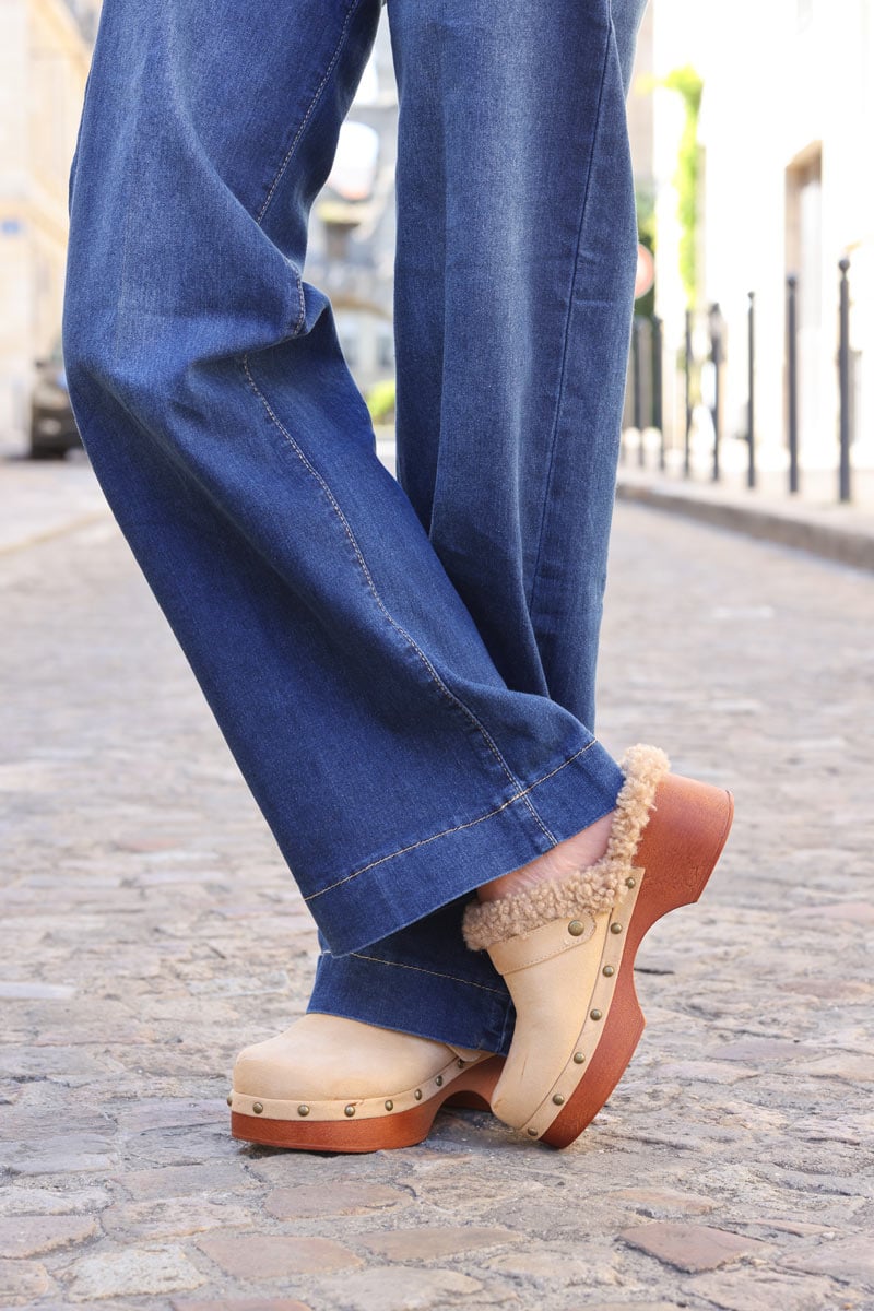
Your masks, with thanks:
M586 869L566 878L527 888L493 902L470 902L461 924L472 950L482 950L519 933L529 933L553 919L588 911L609 910L625 893L625 878L634 868L634 853L649 819L655 789L671 768L658 746L638 742L628 749L620 768L625 775L611 827L607 851Z

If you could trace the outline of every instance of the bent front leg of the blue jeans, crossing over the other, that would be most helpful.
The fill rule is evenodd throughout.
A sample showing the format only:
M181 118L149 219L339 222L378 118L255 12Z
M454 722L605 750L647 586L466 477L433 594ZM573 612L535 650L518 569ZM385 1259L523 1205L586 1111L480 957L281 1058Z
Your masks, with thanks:
M339 957L457 907L621 783L573 712L495 667L301 277L379 12L105 0L64 309L97 477ZM423 966L397 1027L481 1045L466 962Z

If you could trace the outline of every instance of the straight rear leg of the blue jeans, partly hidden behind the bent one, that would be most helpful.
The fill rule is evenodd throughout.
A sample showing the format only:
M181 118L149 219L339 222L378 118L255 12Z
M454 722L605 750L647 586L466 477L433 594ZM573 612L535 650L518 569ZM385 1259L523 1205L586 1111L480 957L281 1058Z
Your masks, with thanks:
M625 94L643 0L388 0L400 84L398 477L510 687L592 724L637 264ZM470 72L468 73L466 69ZM312 1009L414 1027L476 990L461 905L325 947ZM476 960L476 957L474 957ZM449 983L449 978L452 982Z

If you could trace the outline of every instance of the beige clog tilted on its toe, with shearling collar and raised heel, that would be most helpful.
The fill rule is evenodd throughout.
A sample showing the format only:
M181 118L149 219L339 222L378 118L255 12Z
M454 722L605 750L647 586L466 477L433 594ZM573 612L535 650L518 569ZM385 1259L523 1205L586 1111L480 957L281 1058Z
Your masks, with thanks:
M491 1097L499 1120L566 1147L601 1109L643 1032L634 956L649 928L694 902L734 815L730 792L670 773L664 751L630 747L608 847L567 878L464 916L468 947L487 949L516 1007Z

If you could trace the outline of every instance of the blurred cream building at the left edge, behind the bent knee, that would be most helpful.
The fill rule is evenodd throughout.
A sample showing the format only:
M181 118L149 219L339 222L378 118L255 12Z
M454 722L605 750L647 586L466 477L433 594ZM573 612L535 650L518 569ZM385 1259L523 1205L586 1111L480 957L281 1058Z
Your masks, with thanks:
M60 332L89 9L62 0L0 4L0 433L26 427L34 359Z

